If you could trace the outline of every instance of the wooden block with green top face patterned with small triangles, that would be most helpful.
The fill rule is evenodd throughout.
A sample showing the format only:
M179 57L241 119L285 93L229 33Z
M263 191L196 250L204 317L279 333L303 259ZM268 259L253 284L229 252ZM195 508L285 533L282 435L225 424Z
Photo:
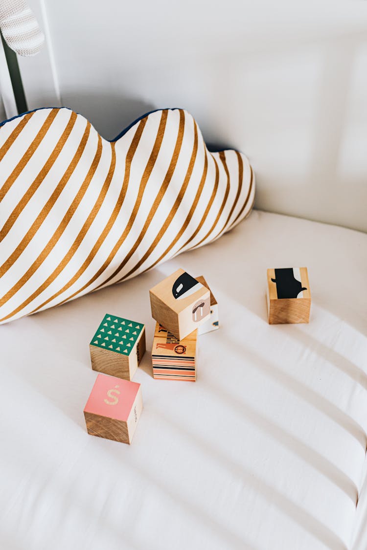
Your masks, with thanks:
M106 313L89 349L94 371L131 380L145 353L145 326Z

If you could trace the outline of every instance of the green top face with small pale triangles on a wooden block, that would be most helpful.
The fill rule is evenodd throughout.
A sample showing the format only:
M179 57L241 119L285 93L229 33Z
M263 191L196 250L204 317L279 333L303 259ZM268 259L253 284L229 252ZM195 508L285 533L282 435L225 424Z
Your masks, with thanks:
M143 328L143 323L106 313L90 344L97 348L129 355Z

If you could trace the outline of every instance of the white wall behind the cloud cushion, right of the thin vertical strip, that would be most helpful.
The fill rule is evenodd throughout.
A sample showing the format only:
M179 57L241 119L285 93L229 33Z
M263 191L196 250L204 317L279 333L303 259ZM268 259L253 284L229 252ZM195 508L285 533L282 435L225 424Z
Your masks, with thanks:
M367 3L42 2L62 103L103 136L187 108L256 207L367 230Z

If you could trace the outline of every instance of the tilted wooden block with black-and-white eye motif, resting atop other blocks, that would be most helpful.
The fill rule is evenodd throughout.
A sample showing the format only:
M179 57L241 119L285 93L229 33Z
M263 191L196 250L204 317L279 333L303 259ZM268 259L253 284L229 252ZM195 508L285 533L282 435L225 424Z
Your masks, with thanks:
M150 291L152 317L183 340L210 318L210 291L180 269Z

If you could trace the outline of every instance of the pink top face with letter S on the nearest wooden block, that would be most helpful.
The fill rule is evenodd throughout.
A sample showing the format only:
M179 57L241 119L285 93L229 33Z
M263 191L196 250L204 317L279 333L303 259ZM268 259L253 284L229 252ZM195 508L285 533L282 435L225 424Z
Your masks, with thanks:
M115 376L98 375L84 412L127 421L140 384Z

